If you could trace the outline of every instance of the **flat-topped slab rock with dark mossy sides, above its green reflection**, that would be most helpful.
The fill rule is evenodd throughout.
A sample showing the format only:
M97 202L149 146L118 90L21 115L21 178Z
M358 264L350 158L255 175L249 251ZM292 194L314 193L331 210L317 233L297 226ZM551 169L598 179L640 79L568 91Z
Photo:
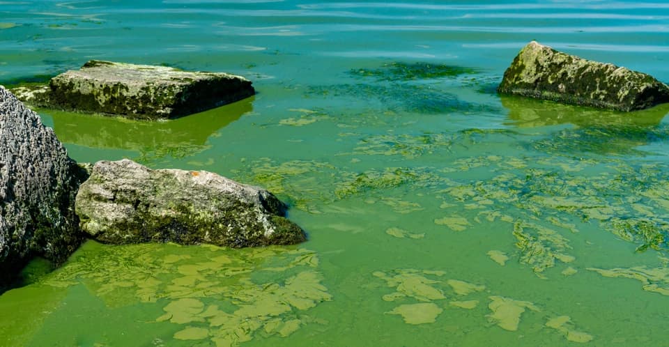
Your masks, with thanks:
M49 98L36 99L51 107L148 119L185 116L254 94L249 80L223 72L109 61L89 61L52 78L49 87Z

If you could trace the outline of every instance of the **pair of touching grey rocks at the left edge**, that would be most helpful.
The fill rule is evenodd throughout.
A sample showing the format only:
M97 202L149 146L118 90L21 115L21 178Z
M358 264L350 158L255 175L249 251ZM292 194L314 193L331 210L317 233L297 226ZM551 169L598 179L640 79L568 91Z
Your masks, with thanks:
M151 170L131 160L87 171L3 86L0 201L0 291L34 257L59 265L86 238L227 247L306 240L276 196L215 173Z

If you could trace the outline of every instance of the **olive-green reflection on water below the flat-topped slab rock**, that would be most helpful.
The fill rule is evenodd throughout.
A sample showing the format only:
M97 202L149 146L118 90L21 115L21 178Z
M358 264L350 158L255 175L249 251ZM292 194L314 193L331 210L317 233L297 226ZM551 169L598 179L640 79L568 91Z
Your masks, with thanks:
M54 131L65 144L121 149L140 153L148 162L164 156L187 157L206 150L207 140L221 128L253 111L254 97L169 121L133 121L41 109L51 115Z

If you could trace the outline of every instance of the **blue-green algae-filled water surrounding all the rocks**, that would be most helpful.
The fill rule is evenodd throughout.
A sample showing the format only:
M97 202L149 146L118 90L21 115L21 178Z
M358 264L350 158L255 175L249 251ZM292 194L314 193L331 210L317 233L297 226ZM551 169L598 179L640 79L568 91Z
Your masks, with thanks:
M494 93L532 39L669 81L657 1L0 1L0 82L233 72L176 121L40 109L79 162L267 187L294 247L95 242L0 295L0 346L663 346L669 107Z

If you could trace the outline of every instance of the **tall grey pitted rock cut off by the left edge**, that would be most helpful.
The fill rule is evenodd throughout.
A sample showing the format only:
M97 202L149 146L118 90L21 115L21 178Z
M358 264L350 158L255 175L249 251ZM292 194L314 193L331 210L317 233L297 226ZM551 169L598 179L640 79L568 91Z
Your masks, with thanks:
M61 263L79 246L83 179L53 130L0 86L0 286L32 256Z

